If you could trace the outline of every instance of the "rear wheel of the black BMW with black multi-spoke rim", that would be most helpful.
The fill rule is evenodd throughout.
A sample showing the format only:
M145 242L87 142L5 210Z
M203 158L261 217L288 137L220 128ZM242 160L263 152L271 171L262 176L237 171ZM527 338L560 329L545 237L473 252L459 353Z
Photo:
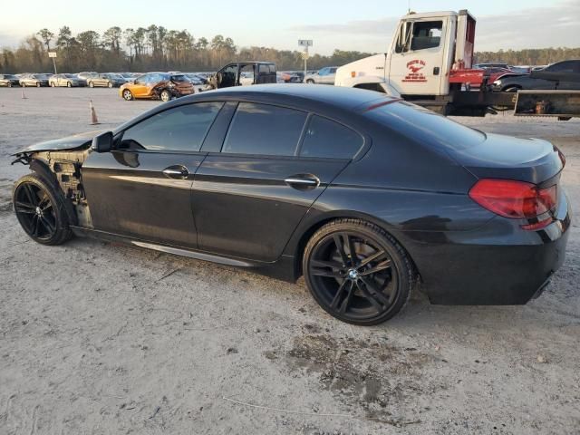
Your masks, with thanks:
M304 248L303 271L311 295L324 311L348 324L366 326L399 313L417 275L393 237L351 218L334 220L314 233Z

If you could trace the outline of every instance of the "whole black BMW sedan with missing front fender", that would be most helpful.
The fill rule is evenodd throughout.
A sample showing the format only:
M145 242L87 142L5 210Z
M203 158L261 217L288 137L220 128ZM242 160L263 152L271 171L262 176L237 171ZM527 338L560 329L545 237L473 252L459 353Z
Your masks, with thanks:
M434 304L526 304L565 257L565 158L377 92L257 85L161 104L116 131L16 154L24 231L304 275L344 322L416 284Z

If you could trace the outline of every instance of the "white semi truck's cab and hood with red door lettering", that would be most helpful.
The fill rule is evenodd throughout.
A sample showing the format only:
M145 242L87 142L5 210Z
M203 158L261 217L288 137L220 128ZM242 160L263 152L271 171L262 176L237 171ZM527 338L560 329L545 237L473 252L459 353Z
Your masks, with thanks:
M454 68L471 68L475 18L467 10L407 14L386 53L339 68L335 84L401 96L449 94Z

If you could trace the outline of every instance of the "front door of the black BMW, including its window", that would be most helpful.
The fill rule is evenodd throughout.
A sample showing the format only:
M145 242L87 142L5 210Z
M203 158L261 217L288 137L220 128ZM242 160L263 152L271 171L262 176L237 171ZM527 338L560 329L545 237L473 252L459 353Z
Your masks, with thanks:
M82 183L95 229L177 247L197 247L190 202L199 152L222 102L160 111L115 137L111 152L93 152Z

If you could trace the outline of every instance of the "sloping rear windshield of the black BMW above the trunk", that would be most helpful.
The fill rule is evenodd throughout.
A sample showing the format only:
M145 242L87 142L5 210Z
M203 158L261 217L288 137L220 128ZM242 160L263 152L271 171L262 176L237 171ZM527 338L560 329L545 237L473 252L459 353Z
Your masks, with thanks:
M438 148L466 150L486 140L481 131L409 102L386 104L365 114L403 136Z

